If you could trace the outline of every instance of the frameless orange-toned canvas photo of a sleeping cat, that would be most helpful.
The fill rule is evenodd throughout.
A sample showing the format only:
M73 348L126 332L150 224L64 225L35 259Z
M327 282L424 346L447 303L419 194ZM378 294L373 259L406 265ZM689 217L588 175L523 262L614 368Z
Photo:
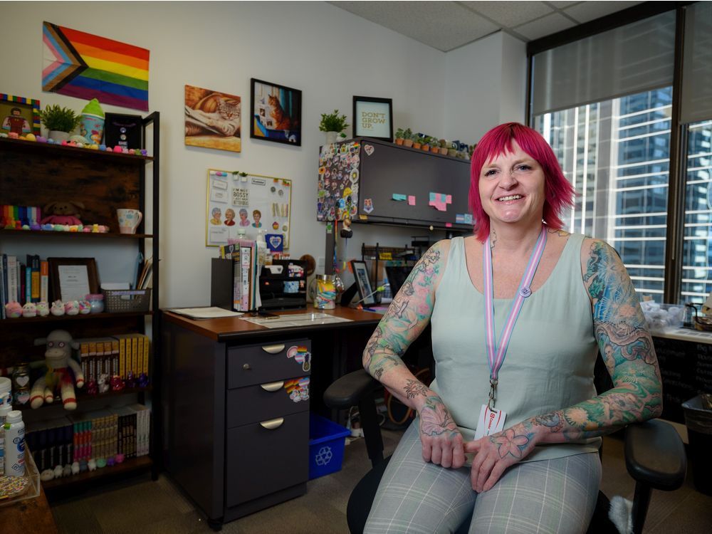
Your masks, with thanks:
M241 152L241 98L185 86L185 144Z

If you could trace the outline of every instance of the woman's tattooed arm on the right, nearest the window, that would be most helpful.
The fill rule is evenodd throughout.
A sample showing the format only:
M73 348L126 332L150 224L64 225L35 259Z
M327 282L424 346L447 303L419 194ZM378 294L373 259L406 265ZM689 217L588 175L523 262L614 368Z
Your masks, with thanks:
M617 253L591 241L583 281L593 305L593 322L603 361L614 387L598 397L528 424L560 442L609 434L662 412L660 370L634 286Z

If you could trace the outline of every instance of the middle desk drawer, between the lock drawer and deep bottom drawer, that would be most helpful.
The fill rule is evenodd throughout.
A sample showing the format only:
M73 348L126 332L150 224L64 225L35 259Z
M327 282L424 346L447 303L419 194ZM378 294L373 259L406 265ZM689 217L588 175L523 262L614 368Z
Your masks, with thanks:
M309 409L309 377L288 378L229 389L227 428Z

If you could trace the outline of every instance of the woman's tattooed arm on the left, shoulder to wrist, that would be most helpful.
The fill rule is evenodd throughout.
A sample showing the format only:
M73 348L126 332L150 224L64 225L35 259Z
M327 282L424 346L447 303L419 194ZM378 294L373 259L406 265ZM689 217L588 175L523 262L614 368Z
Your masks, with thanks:
M444 270L444 248L442 242L435 244L420 258L363 352L365 370L409 406L416 400L422 403L430 390L415 379L402 356L429 323Z

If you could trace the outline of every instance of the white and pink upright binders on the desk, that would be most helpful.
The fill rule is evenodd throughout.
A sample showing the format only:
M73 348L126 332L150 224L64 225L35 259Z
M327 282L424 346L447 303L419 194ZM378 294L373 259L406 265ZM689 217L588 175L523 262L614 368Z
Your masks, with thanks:
M220 247L220 257L233 260L233 308L251 311L260 307L259 269L256 241L236 239Z

